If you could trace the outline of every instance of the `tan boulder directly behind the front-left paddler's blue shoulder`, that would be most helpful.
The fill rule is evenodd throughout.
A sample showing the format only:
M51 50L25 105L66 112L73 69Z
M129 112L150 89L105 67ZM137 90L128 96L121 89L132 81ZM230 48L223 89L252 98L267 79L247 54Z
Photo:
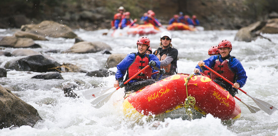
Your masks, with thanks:
M105 64L107 69L111 67L116 67L125 57L127 54L111 54Z

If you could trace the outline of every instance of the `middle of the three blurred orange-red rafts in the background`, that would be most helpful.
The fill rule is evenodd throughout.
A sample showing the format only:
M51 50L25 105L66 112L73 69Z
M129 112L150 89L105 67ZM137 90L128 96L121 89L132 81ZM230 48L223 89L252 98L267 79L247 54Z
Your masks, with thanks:
M158 27L155 27L152 24L142 24L136 27L130 27L127 30L127 34L139 34L139 35L146 35L146 34L156 34L158 32L161 32Z

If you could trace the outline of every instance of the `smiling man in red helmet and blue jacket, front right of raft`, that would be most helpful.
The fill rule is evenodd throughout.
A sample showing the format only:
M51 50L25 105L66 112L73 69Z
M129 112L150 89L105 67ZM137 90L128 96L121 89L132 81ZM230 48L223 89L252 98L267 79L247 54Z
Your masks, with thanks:
M229 40L222 40L218 44L220 55L214 55L204 61L199 61L194 69L194 73L208 70L204 65L210 67L234 85L230 85L224 79L220 78L214 72L211 72L210 78L217 84L225 88L234 97L239 87L243 87L247 80L246 72L238 59L230 55L232 44Z

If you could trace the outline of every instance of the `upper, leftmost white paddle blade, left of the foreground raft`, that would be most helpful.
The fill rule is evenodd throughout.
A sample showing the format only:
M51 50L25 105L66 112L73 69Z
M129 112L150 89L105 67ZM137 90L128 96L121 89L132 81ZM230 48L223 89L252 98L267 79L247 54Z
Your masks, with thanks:
M82 92L82 94L84 95L84 97L88 100L99 97L100 95L104 94L105 92L107 92L108 90L110 90L112 87L98 87L98 88L93 88L93 89L89 89L86 90L84 92Z

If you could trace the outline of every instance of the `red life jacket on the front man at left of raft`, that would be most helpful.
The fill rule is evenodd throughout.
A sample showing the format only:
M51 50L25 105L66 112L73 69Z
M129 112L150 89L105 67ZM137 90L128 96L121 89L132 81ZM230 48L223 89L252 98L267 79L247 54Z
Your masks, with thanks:
M137 72L139 72L141 69L143 69L145 66L147 66L149 63L148 54L146 54L146 56L143 59L137 53L134 54L135 54L135 58L133 62L128 66L128 70L127 70L128 79L131 78L133 75L135 75ZM150 78L152 78L152 67L148 67L133 79L144 80Z

